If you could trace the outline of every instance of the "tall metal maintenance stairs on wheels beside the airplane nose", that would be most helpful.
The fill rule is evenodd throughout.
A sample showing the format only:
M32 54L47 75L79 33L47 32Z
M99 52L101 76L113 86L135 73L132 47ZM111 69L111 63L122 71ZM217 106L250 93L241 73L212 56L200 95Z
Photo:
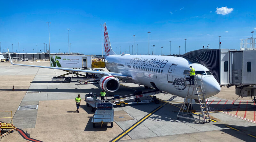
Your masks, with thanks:
M185 78L186 78L186 76L185 76ZM192 80L184 79L184 81L192 81ZM184 99L184 102L182 103L181 109L179 110L179 113L177 115L177 119L179 119L179 117L180 117L180 118L185 118L185 119L190 119L190 120L197 120L197 121L199 121L199 123L202 122L203 124L205 122L207 122L207 120L208 120L208 122L211 122L211 118L209 115L210 107L209 107L209 104L206 103L206 101L205 101L205 100L207 100L207 96L204 93L205 90L204 90L203 74L196 74L194 81L195 81L195 85L187 85L186 84L186 86L188 87L188 94L187 94L186 98ZM191 92L191 89L193 89L192 93L189 93L189 91ZM192 113L193 113L192 112L192 108L193 108L192 97L194 95L197 95L198 103L199 103L199 106L201 109L201 114L200 113L194 113L194 114L198 114L199 118L188 117L188 115L192 116ZM195 97L193 97L193 98L195 98ZM208 108L209 108L209 110L208 110Z

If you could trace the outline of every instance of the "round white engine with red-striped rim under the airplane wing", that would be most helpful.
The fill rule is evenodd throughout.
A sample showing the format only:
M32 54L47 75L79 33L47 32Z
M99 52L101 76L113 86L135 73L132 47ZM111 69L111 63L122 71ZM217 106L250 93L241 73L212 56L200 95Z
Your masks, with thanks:
M107 92L115 92L119 89L119 81L112 76L103 76L100 79L100 88Z

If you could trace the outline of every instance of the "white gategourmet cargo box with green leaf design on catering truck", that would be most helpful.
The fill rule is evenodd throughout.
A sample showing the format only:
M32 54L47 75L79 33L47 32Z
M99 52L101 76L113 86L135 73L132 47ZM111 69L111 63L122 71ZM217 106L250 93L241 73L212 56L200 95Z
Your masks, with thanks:
M73 69L92 68L92 56L85 55L51 55L51 66Z

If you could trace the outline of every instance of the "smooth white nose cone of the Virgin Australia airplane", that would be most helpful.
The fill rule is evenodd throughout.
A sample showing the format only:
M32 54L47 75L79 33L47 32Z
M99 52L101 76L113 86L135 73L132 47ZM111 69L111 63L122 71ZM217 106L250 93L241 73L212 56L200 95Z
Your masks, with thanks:
M220 93L220 85L213 76L204 77L204 90L207 97Z

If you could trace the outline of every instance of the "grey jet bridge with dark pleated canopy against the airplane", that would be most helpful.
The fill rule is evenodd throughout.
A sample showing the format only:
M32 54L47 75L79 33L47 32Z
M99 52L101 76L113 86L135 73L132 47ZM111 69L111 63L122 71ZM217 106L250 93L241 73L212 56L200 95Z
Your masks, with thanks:
M241 40L244 41L244 40ZM255 41L251 40L253 43ZM247 44L242 44L247 45ZM250 45L250 44L249 44ZM192 63L207 67L220 86L236 86L241 97L256 96L256 49L200 49L188 52L182 57Z

